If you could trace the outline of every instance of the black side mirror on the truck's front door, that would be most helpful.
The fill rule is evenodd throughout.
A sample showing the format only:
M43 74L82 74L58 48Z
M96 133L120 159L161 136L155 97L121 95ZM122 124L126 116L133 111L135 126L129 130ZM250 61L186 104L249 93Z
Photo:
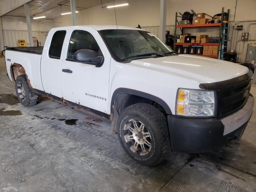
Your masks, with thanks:
M74 60L80 63L92 64L96 67L101 67L104 58L102 56L97 57L97 53L90 49L80 49L75 52Z

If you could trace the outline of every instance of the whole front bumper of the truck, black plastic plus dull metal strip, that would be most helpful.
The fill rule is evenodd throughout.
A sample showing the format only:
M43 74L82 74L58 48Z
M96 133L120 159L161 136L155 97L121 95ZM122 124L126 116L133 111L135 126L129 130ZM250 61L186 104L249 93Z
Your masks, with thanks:
M168 125L174 152L202 153L220 148L230 140L239 140L252 116L254 98L223 119L186 118L168 115Z

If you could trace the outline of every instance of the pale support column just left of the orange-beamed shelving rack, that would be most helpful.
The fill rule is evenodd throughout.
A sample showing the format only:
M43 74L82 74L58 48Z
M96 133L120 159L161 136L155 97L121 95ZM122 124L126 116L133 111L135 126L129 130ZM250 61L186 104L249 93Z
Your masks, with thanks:
M166 33L166 0L160 1L160 40L165 43Z

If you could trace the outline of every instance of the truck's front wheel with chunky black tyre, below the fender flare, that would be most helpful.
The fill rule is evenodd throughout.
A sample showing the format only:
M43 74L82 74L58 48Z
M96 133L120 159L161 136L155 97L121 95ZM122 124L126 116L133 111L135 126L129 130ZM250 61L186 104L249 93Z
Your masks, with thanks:
M150 104L125 108L118 119L117 131L123 149L140 164L154 166L170 152L166 118Z

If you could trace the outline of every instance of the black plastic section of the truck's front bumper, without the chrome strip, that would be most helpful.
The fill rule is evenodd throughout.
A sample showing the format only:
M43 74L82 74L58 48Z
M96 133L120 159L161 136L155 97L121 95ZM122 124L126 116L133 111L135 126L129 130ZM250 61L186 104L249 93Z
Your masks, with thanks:
M230 140L239 139L248 122L223 135L224 125L216 118L184 118L168 115L174 152L203 153L220 148Z

